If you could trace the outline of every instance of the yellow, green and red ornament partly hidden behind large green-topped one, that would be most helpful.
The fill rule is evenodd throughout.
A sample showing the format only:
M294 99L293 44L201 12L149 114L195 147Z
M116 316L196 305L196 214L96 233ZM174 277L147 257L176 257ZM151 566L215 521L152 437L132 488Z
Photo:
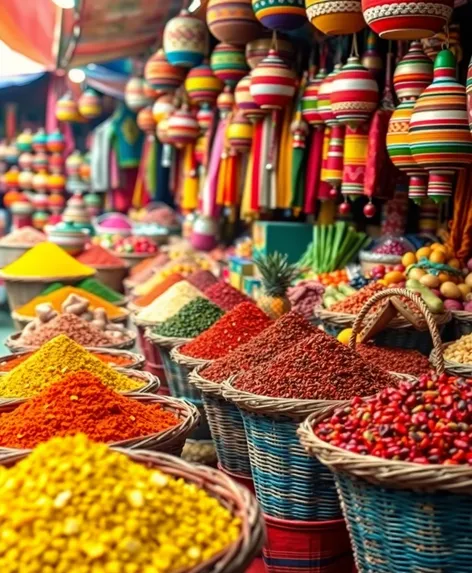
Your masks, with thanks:
M410 120L416 99L404 100L393 112L388 124L387 151L392 163L409 178L408 197L415 203L426 198L428 175L413 159L410 150Z

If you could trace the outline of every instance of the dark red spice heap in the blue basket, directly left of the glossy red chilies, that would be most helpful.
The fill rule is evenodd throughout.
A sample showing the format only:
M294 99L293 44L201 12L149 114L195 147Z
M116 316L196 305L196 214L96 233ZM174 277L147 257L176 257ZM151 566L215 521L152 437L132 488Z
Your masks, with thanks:
M235 383L253 394L303 400L348 400L392 385L392 376L321 330L269 364L245 372Z

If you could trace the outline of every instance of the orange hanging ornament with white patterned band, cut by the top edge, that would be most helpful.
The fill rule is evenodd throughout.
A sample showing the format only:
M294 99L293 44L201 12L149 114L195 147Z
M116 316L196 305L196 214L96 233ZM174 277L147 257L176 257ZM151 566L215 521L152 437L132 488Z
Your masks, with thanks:
M361 0L305 0L305 5L308 19L323 34L343 36L365 27Z

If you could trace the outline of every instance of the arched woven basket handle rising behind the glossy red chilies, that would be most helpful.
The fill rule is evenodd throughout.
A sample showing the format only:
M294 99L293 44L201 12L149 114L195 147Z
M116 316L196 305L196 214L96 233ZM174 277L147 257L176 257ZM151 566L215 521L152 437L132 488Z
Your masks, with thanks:
M431 311L428 309L426 304L423 302L420 296L416 293L403 289L403 288L391 288L387 290L380 291L374 294L361 308L359 314L356 316L354 324L352 325L352 332L351 337L349 339L349 348L355 350L356 348L356 339L357 335L361 331L362 323L365 317L368 315L370 309L377 303L379 300L383 300L386 298L391 298L393 296L404 296L410 299L413 303L416 304L418 309L424 316L426 324L428 326L429 332L431 334L431 338L433 339L433 346L434 346L434 355L435 355L435 366L436 371L438 374L444 373L444 356L442 352L442 340L439 334L439 330L436 324L436 321L431 314ZM374 317L375 319L375 317Z

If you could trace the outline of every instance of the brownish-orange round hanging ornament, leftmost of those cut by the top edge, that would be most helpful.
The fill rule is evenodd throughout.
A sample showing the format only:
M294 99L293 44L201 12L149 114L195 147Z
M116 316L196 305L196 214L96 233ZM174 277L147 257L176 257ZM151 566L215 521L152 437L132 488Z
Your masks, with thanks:
M220 42L245 45L261 33L251 0L210 0L206 20L210 32Z

